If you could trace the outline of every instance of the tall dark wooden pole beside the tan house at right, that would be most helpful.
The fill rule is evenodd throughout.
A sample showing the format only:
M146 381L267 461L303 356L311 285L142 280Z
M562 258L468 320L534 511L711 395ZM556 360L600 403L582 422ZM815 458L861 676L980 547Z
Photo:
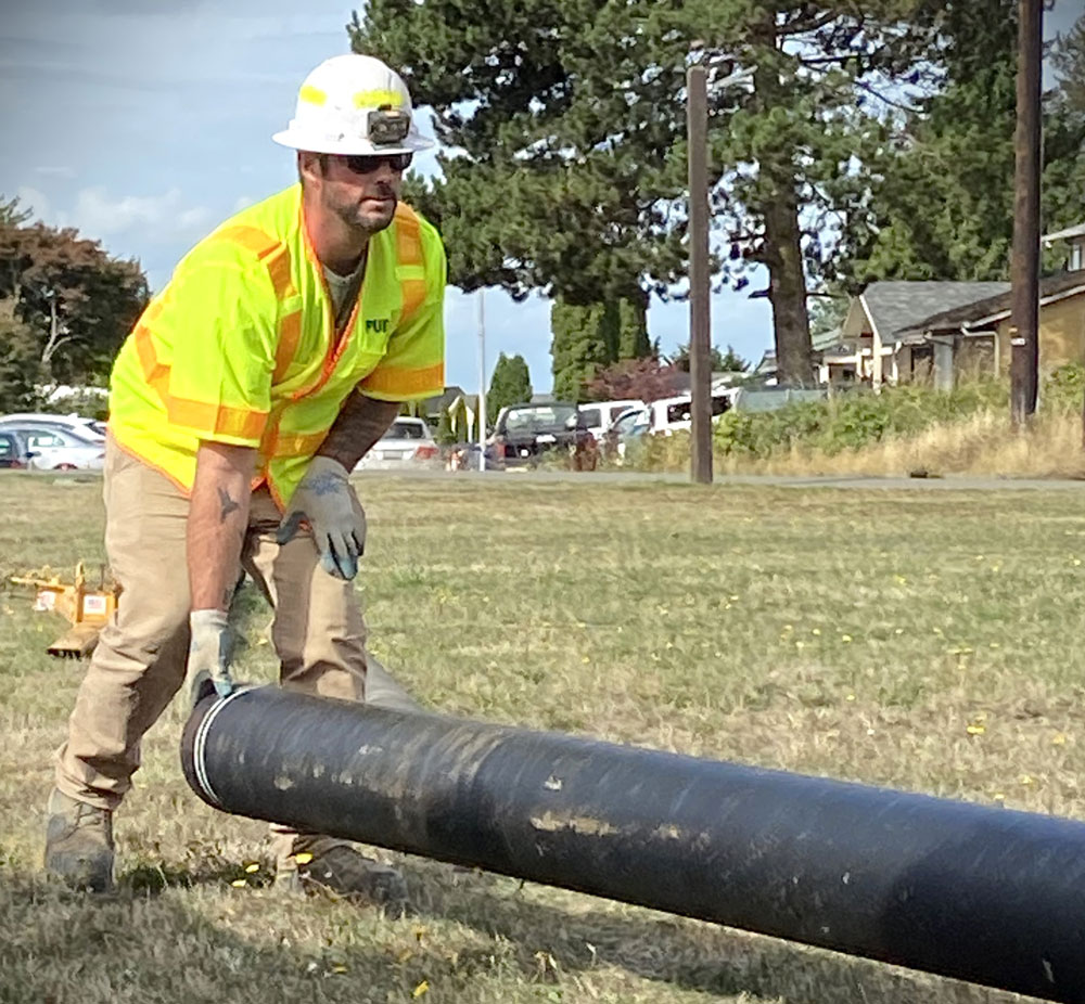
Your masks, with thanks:
M1041 68L1044 0L1018 2L1013 253L1010 261L1010 416L1022 427L1036 412L1039 370Z

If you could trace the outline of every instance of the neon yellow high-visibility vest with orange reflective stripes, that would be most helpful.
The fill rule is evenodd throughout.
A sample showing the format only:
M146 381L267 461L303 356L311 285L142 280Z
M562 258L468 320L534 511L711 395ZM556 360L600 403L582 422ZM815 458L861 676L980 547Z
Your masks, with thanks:
M445 386L445 249L403 203L369 241L342 332L295 184L201 241L148 306L113 368L119 446L190 491L201 440L258 448L255 485L289 502L347 396Z

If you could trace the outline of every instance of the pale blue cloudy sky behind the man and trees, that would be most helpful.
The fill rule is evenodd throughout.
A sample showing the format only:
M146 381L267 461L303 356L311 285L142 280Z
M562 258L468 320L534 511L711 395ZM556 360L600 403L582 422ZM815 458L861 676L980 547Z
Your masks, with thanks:
M1059 0L1045 35L1069 27L1083 5ZM204 234L294 181L293 154L271 133L293 115L306 74L349 50L345 26L356 7L9 0L0 22L0 195L138 258L161 288ZM425 153L416 166L432 173L436 162ZM535 389L549 390L549 301L515 304L499 289L484 297L487 384L499 352L520 353ZM446 379L474 391L478 294L450 287L445 324ZM673 351L688 340L688 304L653 299L648 325L663 352ZM756 362L773 342L768 301L715 294L712 337Z

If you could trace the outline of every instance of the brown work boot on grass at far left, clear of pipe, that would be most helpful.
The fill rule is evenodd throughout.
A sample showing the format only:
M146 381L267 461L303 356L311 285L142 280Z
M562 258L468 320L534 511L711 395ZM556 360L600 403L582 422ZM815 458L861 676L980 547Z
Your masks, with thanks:
M46 826L46 871L76 889L113 890L113 813L53 788Z

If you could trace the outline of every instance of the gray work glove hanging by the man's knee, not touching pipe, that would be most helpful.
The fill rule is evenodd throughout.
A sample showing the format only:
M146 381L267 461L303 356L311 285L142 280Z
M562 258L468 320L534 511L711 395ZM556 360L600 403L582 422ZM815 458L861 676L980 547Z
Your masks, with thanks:
M366 550L366 517L355 509L347 474L337 460L314 456L276 535L276 540L284 544L297 532L302 520L307 520L320 552L320 567L341 579L353 579L358 574L358 558Z

